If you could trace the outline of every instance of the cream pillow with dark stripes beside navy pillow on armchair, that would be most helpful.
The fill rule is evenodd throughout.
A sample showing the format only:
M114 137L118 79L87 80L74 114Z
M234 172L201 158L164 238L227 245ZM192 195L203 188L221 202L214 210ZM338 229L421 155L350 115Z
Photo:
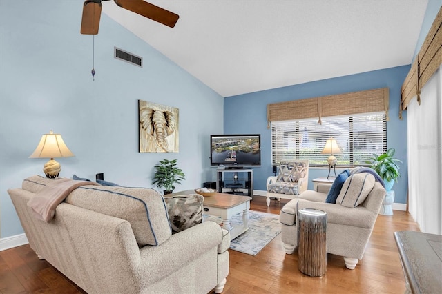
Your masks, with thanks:
M374 176L369 173L356 173L348 177L340 190L336 204L354 208L364 202L374 187Z

